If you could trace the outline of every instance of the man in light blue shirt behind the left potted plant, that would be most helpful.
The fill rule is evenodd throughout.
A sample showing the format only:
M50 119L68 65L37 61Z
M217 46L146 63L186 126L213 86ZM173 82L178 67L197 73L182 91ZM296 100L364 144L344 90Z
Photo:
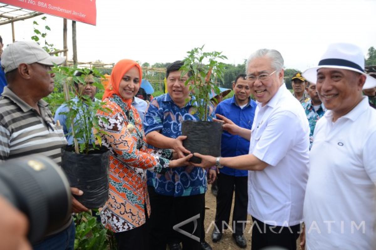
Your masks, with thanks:
M75 76L81 76L82 72L76 71L74 72ZM93 85L94 83L94 76L92 75L92 72L90 71L89 75L85 76L85 84L82 84L80 82L74 82L74 87L76 88L77 93L81 93L85 96L88 96L93 102L99 102L100 100L96 99L94 96L97 93L97 87ZM74 102L78 102L79 97L74 97L72 100ZM55 122L59 120L60 125L63 127L65 138L67 138L68 145L73 145L73 135L72 135L72 126L70 124L67 124L67 115L61 114L62 112L68 112L68 106L66 104L61 105L55 112ZM78 112L76 118L74 119L74 123L76 124L78 121L82 120L80 119L80 112ZM92 139L90 143L94 142L94 136L92 136ZM80 142L79 142L80 143Z

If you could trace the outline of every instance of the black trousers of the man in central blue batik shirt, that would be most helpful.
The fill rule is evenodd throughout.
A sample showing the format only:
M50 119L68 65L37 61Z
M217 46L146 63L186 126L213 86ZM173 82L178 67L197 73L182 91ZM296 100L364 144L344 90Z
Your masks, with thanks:
M194 221L189 222L179 228L183 231L200 238L202 230L202 211L205 208L205 194L173 197L159 195L153 187L148 186L151 214L150 214L150 250L165 250L167 243L176 241L182 243L183 250L199 250L200 241L196 241L173 229L174 225L188 220L197 214L200 215ZM196 229L195 229L196 227Z

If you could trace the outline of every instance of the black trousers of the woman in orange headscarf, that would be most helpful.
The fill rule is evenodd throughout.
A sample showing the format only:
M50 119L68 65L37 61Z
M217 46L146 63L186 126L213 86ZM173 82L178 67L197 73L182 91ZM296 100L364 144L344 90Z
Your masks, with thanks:
M146 206L145 206L146 207ZM146 223L128 231L114 233L118 250L149 250L149 219Z

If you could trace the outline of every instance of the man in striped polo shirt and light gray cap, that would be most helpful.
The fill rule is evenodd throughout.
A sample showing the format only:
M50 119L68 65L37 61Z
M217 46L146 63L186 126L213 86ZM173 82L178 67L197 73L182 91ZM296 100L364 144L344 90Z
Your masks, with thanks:
M8 86L0 99L0 163L43 154L61 165L61 148L67 141L42 98L54 88L51 67L62 64L65 58L50 56L35 42L15 42L4 49L1 59ZM71 189L82 195L82 191ZM72 203L74 212L87 211L76 199ZM73 250L74 235L74 222L70 219L34 244L33 249Z

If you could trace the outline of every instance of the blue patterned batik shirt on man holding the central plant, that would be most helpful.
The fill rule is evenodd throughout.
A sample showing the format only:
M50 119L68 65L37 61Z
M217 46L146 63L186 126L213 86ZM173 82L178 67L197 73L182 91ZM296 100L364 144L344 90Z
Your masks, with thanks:
M159 130L162 135L177 138L182 135L181 122L185 120L199 120L194 112L196 102L194 97L182 108L179 108L170 95L163 94L155 97L145 114L145 135ZM208 121L214 118L214 108L209 107ZM165 174L147 171L147 184L155 188L155 192L168 196L190 196L206 192L206 171L202 168L184 166L173 168Z

